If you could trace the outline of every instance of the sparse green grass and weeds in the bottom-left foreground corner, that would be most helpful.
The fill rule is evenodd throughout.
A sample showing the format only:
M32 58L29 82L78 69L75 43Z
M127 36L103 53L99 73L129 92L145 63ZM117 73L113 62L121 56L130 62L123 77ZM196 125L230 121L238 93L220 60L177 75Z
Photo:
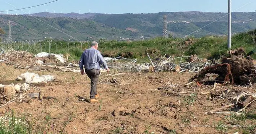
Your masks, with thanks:
M10 113L0 116L0 134L63 134L71 120L72 117L69 116L60 124L61 130L57 130L57 126L53 126L49 115L45 116L44 120L37 121L31 115L18 115L12 110ZM50 131L51 133L49 133Z

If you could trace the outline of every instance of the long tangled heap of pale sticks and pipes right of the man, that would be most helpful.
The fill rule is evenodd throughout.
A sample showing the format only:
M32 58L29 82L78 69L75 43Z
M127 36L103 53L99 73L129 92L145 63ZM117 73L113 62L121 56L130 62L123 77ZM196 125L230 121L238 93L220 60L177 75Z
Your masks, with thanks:
M201 69L205 68L206 66L211 65L210 60L206 60L203 58L198 58L201 61L197 63L192 62L184 62L182 61L182 58L190 58L190 57L176 57L176 58L165 58L161 57L160 59L151 59L149 55L147 54L147 57L149 58L150 63L144 62L144 61L138 61L138 59L127 59L124 57L121 57L118 55L118 60L124 60L126 62L120 62L120 63L109 63L109 68L112 68L114 70L119 71L149 71L149 72L160 72L160 71L175 71L177 70L178 73L181 72L199 72ZM204 62L205 61L205 62ZM137 62L140 62L139 64L136 64Z

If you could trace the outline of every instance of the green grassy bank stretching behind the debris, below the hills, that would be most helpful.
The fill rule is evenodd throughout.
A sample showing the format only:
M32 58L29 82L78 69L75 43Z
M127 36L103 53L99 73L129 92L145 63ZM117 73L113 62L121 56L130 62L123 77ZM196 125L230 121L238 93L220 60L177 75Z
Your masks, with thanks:
M243 47L246 53L251 50L256 50L256 43L253 41L253 36L256 30L245 33L235 34L232 37L232 48ZM185 41L190 38L193 44L184 45ZM139 41L115 41L99 39L99 51L104 57L117 57L118 55L125 58L146 58L146 49L151 58L160 58L161 55L170 57L190 56L196 54L200 58L219 59L220 55L227 55L227 37L220 36L206 36L202 38L188 37L186 39L168 37L156 37L149 40ZM255 38L255 37L254 37ZM60 40L52 40L50 43L47 40L42 42L42 52L50 53L69 53L69 59L79 60L83 50L89 48L88 42L64 42ZM89 43L90 44L90 43ZM0 47L10 47L15 50L27 50L31 53L41 52L40 43L28 45L28 43L21 44L3 44ZM256 55L251 55L256 58ZM66 57L65 57L66 58Z

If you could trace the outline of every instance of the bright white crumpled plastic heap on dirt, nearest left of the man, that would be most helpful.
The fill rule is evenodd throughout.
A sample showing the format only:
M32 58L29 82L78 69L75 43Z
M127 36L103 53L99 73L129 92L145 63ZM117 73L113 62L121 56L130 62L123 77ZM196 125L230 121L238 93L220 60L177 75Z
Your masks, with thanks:
M35 74L35 73L26 72L18 76L17 80L25 80L24 82L29 82L29 83L41 83L41 82L53 81L55 80L55 77L50 75L39 76L38 74Z

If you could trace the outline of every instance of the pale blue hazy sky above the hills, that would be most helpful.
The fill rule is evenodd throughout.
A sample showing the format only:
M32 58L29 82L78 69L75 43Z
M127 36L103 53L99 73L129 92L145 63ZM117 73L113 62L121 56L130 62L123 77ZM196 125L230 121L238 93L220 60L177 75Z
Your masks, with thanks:
M25 8L51 1L54 0L0 0L0 11ZM79 10L81 14L88 12L114 14L158 13L162 11L227 12L227 5L228 0L58 0L57 2L34 8L9 11L8 14L25 14L29 13L29 11L30 13L43 11L79 13ZM254 12L255 10L256 0L232 0L232 12Z

